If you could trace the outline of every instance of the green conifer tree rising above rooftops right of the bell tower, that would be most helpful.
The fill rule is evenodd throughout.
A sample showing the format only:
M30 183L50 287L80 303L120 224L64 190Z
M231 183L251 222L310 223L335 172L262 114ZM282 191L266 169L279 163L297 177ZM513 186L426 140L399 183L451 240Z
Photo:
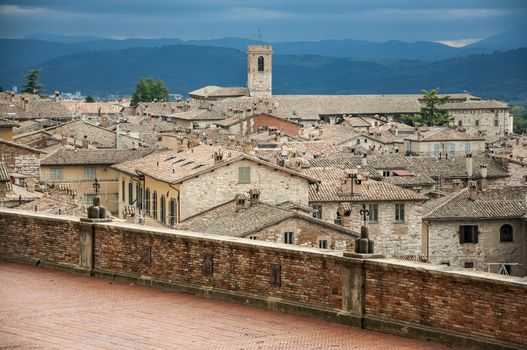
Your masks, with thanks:
M401 121L408 125L443 126L454 121L447 110L440 106L449 101L449 96L439 96L439 89L423 90L425 106L414 115L403 115Z

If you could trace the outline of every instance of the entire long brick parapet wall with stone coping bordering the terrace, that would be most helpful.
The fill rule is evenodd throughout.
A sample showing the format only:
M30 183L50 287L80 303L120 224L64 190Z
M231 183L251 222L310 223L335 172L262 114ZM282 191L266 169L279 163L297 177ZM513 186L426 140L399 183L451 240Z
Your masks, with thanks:
M515 277L10 209L0 209L0 225L3 259L88 266L95 274L179 284L194 293L234 293L238 298L229 300L269 308L294 304L300 311L281 309L346 324L359 319L365 328L454 346L527 344L527 285ZM85 254L92 247L93 260Z

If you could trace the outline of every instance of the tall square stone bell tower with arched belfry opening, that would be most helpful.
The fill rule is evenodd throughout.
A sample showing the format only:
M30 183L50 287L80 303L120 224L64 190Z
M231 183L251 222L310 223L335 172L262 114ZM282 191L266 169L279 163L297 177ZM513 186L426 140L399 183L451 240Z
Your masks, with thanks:
M247 48L247 88L251 97L271 97L273 93L273 47L249 45Z

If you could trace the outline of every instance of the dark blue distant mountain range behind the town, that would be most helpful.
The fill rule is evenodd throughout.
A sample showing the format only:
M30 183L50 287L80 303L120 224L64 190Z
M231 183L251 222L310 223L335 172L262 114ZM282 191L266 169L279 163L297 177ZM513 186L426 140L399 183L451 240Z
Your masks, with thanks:
M521 33L520 33L521 34ZM482 97L527 98L527 38L502 33L464 48L432 42L322 40L272 43L276 93L417 93L440 87ZM45 41L52 40L52 41ZM163 79L171 92L246 84L240 38L111 40L35 34L0 39L0 86L22 85L41 67L48 91L130 94L138 78ZM510 50L514 49L514 50ZM510 51L506 51L510 50Z

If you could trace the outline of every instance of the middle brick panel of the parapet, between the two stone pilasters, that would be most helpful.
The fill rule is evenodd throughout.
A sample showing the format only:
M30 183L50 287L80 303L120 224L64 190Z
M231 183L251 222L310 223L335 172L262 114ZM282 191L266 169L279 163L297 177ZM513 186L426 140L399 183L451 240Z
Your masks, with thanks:
M341 308L343 258L246 242L104 225L96 231L94 267ZM208 257L212 273L204 271ZM279 287L270 283L272 266L280 266Z

